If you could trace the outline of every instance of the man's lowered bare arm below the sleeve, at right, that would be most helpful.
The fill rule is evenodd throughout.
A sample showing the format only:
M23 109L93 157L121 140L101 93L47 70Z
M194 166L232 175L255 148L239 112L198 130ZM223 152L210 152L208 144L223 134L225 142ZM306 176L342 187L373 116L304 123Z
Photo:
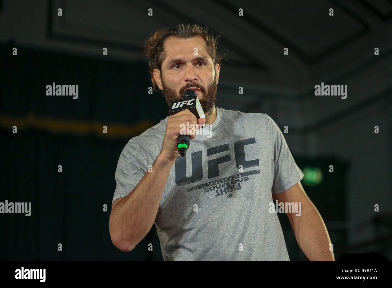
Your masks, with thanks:
M301 182L286 191L272 194L272 197L278 202L301 203L301 216L296 216L295 211L286 215L289 217L299 247L309 260L335 261L334 252L329 250L331 240L324 221L303 190Z

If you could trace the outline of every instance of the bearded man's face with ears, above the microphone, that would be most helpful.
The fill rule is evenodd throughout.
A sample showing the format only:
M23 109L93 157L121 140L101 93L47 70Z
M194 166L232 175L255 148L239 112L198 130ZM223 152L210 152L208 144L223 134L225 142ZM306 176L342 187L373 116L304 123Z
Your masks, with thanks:
M197 48L197 55L194 51ZM185 89L200 88L196 91L203 111L213 109L216 101L216 84L219 79L219 64L213 65L207 53L205 40L201 36L188 39L169 37L164 43L167 56L162 68L154 70L158 87L163 90L167 105L172 100L180 99Z

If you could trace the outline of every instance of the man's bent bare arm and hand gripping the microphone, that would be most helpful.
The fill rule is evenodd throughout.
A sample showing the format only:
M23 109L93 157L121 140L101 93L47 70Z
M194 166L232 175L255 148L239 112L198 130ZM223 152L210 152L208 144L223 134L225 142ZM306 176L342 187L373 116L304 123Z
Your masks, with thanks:
M142 179L127 196L113 202L109 218L109 233L114 246L124 252L131 251L150 231L158 213L171 167L177 156L180 155L177 139L181 134L182 125L193 126L189 136L194 139L196 138L196 130L200 127L198 124L204 123L204 118L196 119L189 109L169 116L163 136L162 150L152 163L152 171L145 172ZM129 165L129 162L132 161L131 158L132 156L125 160L120 157L120 160L123 161L122 165ZM132 169L138 169L138 167ZM132 176L128 175L127 177L131 178ZM123 188L123 190L126 189Z

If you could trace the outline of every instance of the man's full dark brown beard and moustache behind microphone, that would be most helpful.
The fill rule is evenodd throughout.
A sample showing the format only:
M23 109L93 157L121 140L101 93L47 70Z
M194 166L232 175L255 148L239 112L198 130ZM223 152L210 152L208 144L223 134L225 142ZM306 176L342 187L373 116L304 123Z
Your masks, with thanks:
M166 102L167 102L167 105L169 106L169 108L170 108L171 101L180 99L182 94L184 93L184 91L188 88L191 88L191 87L200 88L202 95L201 95L201 100L199 99L199 101L200 101L201 108L203 109L204 113L207 113L209 110L213 109L213 107L214 107L214 104L216 101L216 96L215 96L216 95L216 81L215 80L207 87L207 92L205 91L205 87L202 87L198 83L191 83L191 82L188 82L187 85L182 87L179 92L176 92L176 91L174 91L174 89L170 89L169 87L167 87L165 85L165 83L163 82L163 78L162 78L162 86L163 86L162 93L165 96L165 99L166 99Z

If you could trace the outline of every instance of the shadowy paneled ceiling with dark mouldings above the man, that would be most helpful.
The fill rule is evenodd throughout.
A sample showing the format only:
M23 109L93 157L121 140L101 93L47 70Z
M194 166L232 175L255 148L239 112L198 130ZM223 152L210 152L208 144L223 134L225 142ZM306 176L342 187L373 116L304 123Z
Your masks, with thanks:
M108 47L111 57L143 61L146 67L139 46L156 30L176 23L208 27L220 35L218 50L228 59L217 94L227 109L255 112L279 105L279 111L293 113L305 107L295 113L310 117L309 110L318 106L312 117L325 118L379 93L391 94L392 0L49 0L22 7L9 0L3 9L1 24L12 23L13 13L26 14L23 27L0 30L3 40L8 33L30 45L89 56ZM349 97L338 106L315 97L314 85L321 82L348 84ZM238 94L239 87L244 94Z

